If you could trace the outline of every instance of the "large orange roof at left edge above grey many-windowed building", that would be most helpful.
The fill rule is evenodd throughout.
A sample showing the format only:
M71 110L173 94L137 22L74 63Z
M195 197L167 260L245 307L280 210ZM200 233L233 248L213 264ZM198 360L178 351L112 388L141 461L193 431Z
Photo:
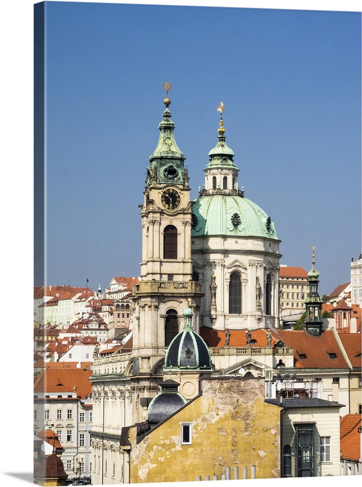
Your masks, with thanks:
M93 374L86 368L47 367L34 382L34 393L72 393L85 399L92 392L89 377Z

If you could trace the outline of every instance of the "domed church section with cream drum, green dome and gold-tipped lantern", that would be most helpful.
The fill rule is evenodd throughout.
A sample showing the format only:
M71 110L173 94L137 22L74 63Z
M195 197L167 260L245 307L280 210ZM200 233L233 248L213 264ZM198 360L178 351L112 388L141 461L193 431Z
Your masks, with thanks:
M192 279L202 284L200 326L218 330L278 325L279 243L271 217L245 198L222 112L205 183L192 206Z

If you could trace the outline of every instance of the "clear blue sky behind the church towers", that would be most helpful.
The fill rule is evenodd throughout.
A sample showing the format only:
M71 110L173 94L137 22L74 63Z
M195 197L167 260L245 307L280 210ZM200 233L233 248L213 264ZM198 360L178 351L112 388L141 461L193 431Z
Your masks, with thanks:
M320 291L361 236L361 13L47 2L47 284L137 276L138 205L169 80L197 197L216 143Z

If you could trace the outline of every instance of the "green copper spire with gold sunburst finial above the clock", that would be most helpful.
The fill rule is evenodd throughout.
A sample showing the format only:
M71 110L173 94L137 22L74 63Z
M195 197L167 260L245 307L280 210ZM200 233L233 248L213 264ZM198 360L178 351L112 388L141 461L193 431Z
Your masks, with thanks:
M146 186L163 184L184 184L184 160L185 155L179 149L175 138L174 128L175 124L171 120L171 112L169 107L171 100L169 98L169 91L171 90L171 83L168 81L163 85L166 91L166 98L164 99L165 111L163 112L163 120L160 122L158 128L160 136L156 149L150 156L150 167L147 168ZM156 179L154 175L156 174ZM153 176L153 177L152 177Z

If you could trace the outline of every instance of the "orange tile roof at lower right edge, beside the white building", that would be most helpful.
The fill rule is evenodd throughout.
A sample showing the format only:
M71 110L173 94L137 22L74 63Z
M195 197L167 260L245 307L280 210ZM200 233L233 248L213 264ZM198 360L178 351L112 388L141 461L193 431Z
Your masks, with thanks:
M346 414L340 419L341 459L358 462L361 457L361 414Z

